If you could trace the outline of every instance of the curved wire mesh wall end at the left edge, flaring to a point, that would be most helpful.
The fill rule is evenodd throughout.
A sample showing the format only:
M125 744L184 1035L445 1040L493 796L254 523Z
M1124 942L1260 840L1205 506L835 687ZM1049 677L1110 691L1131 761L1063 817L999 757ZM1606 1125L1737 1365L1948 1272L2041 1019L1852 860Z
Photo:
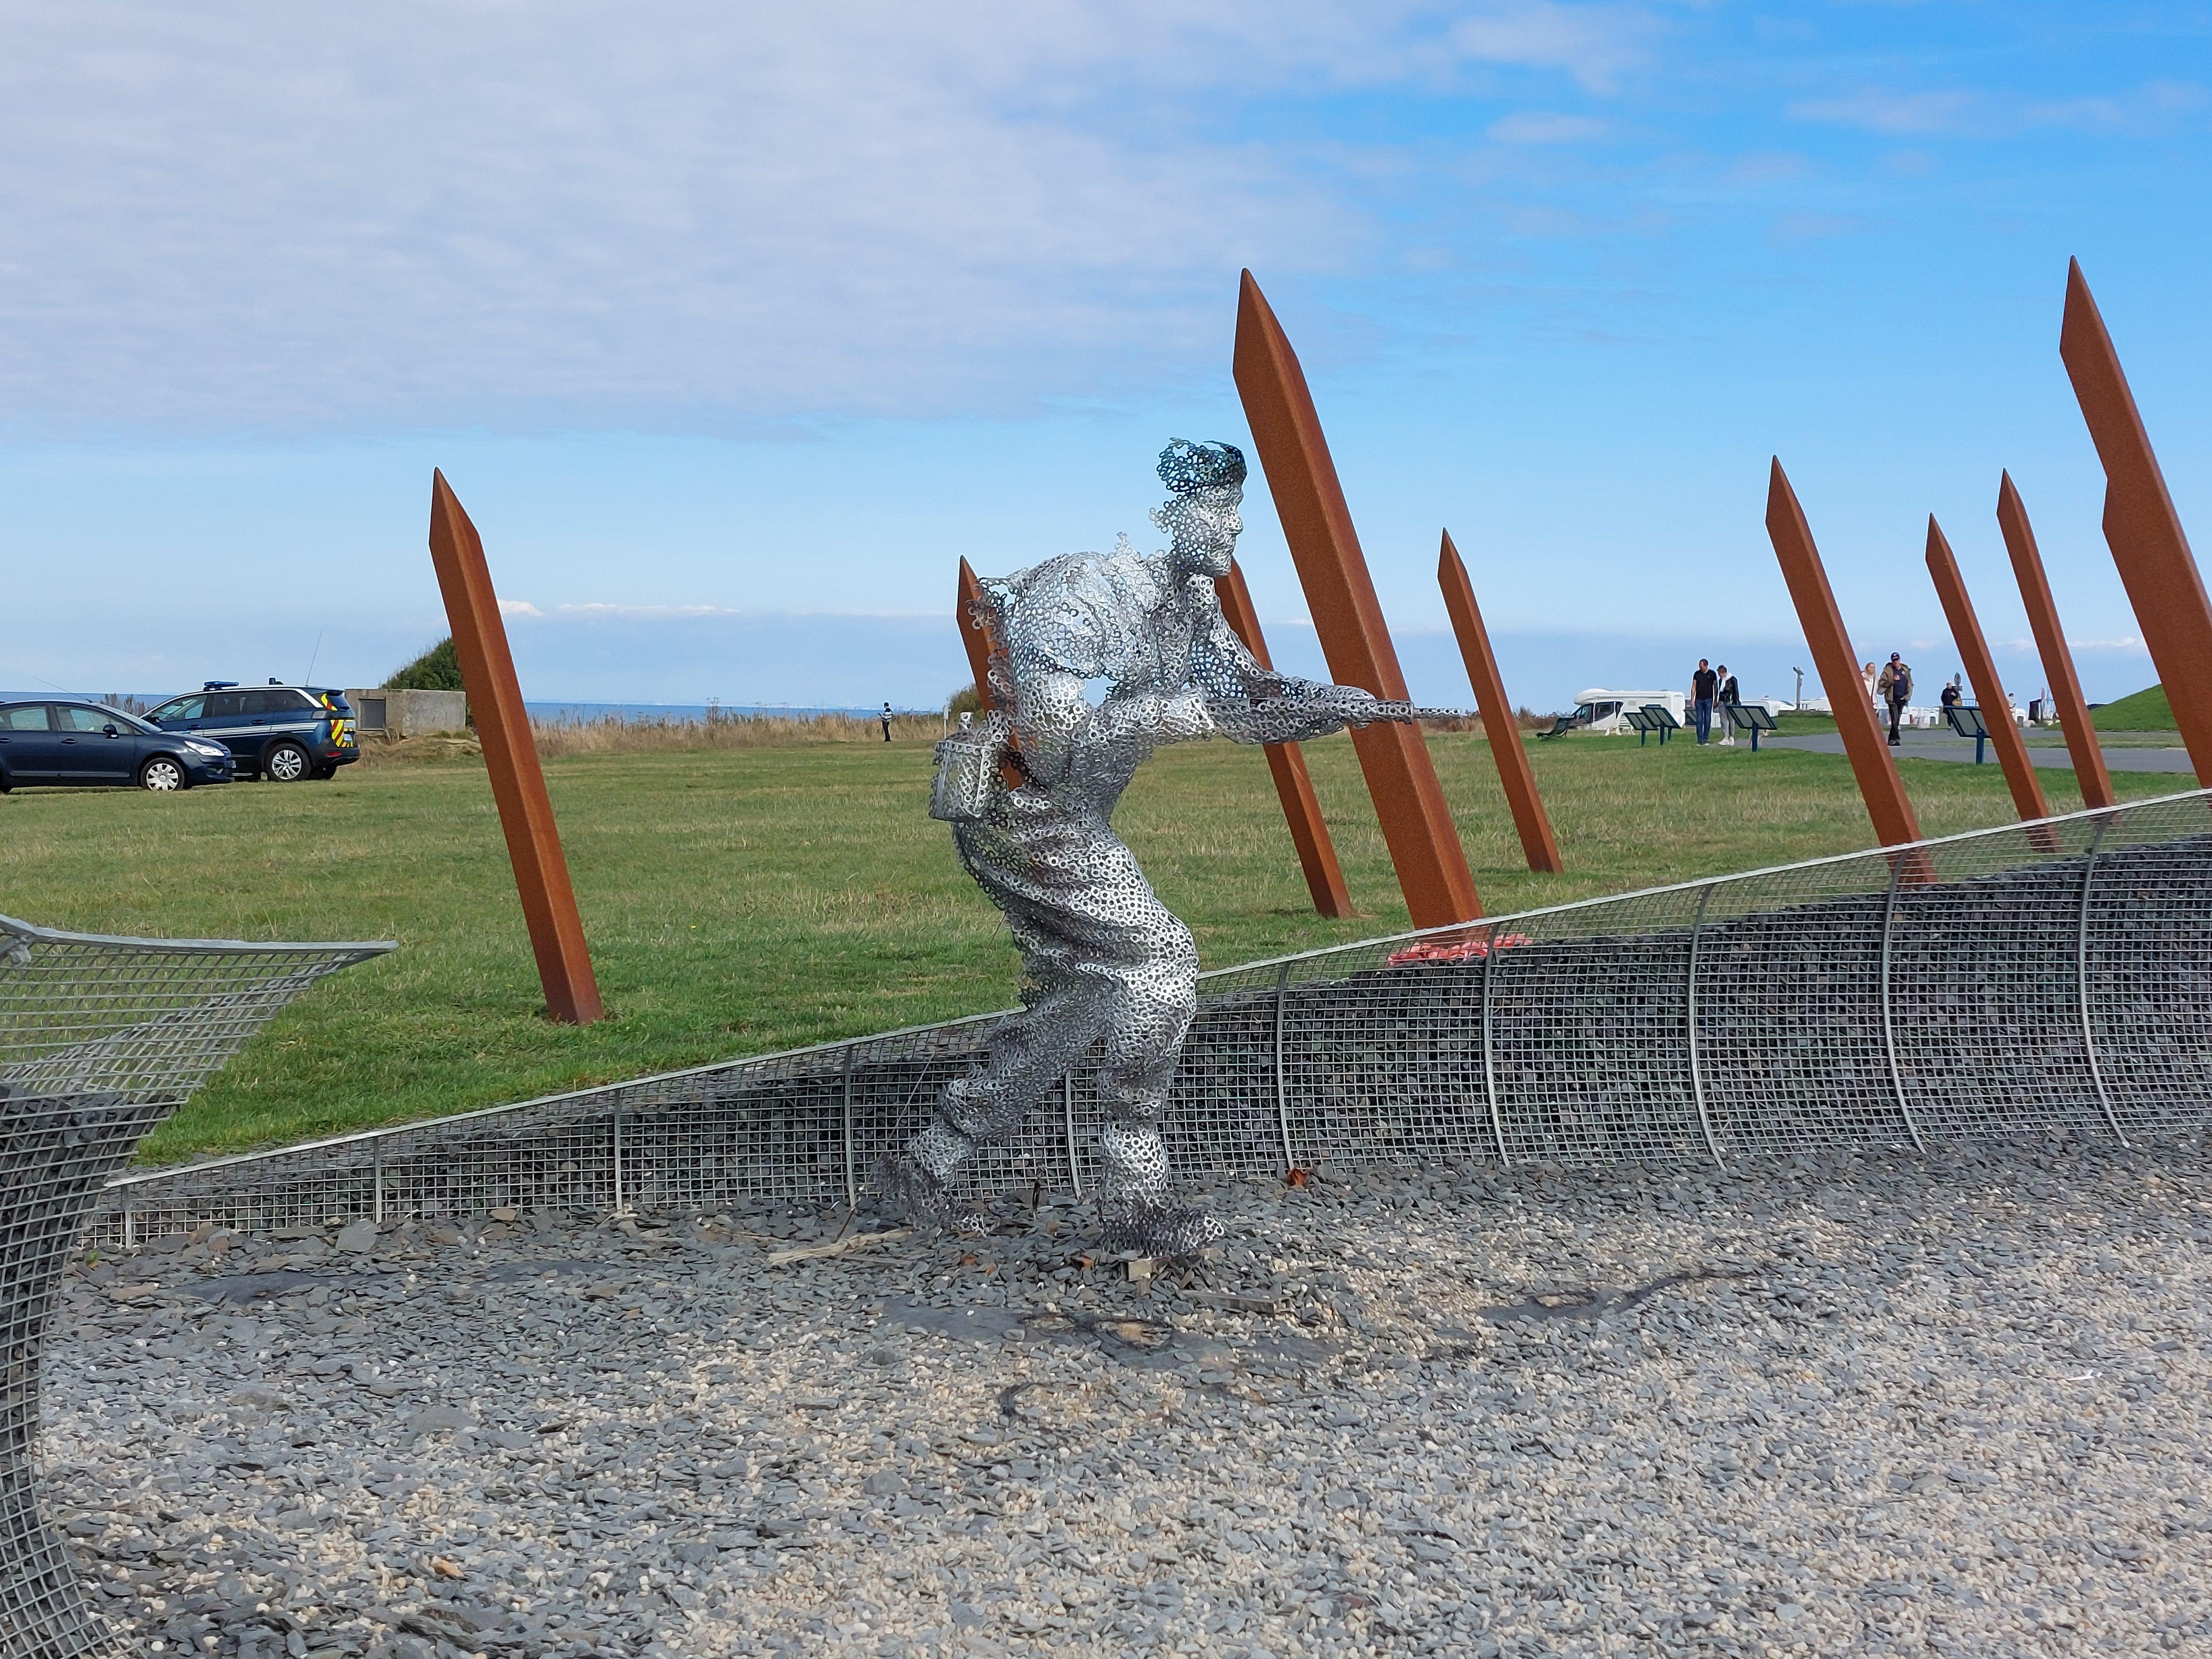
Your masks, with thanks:
M389 945L159 942L0 916L0 1655L108 1646L38 1517L46 1316L108 1177L292 998Z

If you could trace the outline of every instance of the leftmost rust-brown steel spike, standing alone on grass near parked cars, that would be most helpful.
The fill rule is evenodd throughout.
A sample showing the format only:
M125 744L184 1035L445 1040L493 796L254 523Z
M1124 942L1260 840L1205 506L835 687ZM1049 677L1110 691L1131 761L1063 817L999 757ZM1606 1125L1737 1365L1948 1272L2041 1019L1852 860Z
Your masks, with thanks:
M500 805L507 860L515 867L546 1013L564 1024L588 1026L599 1018L599 984L591 973L584 920L575 914L568 860L562 858L560 827L538 768L538 743L522 708L515 659L507 650L500 595L491 588L484 542L442 471L434 471L429 484L429 557L438 566L447 622L453 624L460 684L476 710L476 737L484 745L491 799Z

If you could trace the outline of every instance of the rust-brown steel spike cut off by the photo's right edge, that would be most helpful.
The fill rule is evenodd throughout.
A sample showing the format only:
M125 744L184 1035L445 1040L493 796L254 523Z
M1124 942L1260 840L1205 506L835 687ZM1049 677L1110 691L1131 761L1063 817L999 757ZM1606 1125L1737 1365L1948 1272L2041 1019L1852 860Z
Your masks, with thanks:
M2181 531L2166 473L2150 449L2119 352L2097 314L2081 261L2066 261L2066 319L2059 358L2073 380L2081 418L2104 462L2104 540L2150 646L2174 726L2190 750L2197 783L2212 783L2212 604Z

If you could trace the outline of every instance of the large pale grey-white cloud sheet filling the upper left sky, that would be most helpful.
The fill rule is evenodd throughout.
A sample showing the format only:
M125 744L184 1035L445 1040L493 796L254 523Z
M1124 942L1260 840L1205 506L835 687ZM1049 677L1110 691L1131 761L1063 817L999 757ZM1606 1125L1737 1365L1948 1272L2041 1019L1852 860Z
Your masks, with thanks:
M1245 100L1524 69L1639 7L77 0L0 53L29 431L1020 411L1223 349L1369 197ZM1223 135L1225 133L1225 135Z

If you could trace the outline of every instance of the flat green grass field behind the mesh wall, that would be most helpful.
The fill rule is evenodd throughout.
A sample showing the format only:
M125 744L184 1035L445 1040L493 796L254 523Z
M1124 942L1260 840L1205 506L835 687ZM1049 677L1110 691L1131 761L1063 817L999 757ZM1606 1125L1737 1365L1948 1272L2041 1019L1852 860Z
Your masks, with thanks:
M1840 757L1531 743L1568 863L1520 860L1489 750L1429 739L1489 914L1871 843ZM1307 748L1352 896L1325 922L1259 750L1164 750L1119 827L1208 967L1407 927L1347 739ZM148 1161L431 1117L1013 1000L998 914L925 816L929 745L577 754L546 765L608 1020L542 1018L482 765L179 796L0 796L0 911L173 938L396 938L257 1037ZM1927 834L2006 823L1995 765L1905 761ZM2185 779L2119 774L2132 794ZM2044 774L2053 810L2079 801Z

